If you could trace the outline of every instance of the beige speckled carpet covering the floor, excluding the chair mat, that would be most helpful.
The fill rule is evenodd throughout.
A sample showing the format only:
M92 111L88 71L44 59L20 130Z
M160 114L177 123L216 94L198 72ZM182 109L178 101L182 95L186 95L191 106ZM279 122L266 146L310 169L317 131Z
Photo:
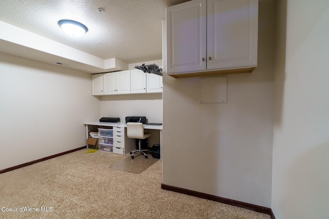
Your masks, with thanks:
M0 174L0 208L17 208L0 209L0 218L270 218L162 190L160 160L134 174L108 168L129 154L86 151ZM39 211L20 212L20 207ZM41 212L45 207L48 212Z

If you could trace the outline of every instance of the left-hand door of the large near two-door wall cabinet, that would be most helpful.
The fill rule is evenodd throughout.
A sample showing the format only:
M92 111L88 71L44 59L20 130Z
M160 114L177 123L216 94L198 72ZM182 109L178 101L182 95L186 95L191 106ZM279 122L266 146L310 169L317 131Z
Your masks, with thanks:
M166 10L167 73L206 70L207 0Z

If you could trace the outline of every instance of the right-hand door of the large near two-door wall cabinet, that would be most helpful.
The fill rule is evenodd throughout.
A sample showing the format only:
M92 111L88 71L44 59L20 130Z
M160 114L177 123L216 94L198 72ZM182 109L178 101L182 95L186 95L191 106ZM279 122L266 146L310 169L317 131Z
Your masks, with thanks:
M257 66L258 0L208 0L207 7L207 69Z

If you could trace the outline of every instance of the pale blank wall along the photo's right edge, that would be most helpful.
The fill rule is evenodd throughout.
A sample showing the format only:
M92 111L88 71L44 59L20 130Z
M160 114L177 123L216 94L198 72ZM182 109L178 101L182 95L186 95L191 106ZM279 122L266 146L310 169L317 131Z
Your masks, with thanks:
M278 1L272 211L329 216L329 2Z

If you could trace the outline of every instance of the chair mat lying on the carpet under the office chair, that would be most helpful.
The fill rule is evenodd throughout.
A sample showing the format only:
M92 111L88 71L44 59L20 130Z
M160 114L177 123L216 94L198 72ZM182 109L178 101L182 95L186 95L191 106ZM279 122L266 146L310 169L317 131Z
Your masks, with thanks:
M143 155L137 155L134 159L132 159L131 156L129 156L115 164L112 164L108 168L140 174L158 160L159 159L152 157L151 154L148 154L148 158L145 158Z

